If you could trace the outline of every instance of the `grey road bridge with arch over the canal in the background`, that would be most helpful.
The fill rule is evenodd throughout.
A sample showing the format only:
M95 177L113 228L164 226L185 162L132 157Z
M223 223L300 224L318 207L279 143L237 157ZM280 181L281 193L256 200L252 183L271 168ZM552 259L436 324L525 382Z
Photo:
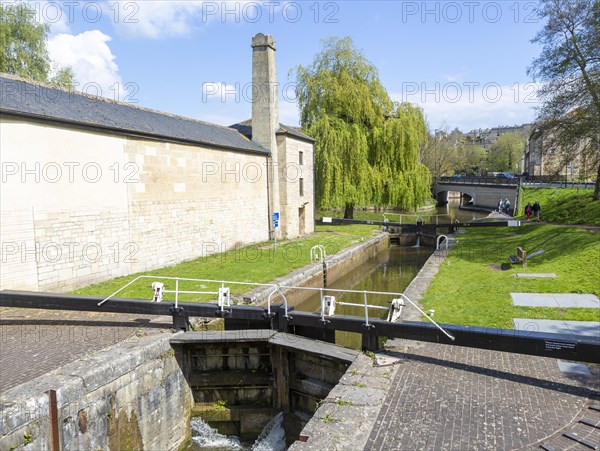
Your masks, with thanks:
M498 200L508 199L516 205L519 179L494 177L440 177L433 184L433 195L438 204L448 203L450 191L459 192L470 198L473 206L496 208Z

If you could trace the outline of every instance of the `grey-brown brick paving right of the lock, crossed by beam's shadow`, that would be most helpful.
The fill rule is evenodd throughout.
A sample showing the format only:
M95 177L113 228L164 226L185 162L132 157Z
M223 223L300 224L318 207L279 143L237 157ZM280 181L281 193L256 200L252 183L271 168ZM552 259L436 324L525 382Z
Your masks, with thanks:
M388 343L402 361L365 450L534 449L573 423L600 386L597 366L576 376L556 359Z

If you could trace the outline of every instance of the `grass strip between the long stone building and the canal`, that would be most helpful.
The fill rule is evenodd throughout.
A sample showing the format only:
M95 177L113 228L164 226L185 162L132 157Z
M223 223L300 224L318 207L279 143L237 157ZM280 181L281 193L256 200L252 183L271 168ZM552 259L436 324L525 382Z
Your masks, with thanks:
M236 282L268 283L277 277L301 268L310 263L310 248L317 244L325 246L327 255L333 255L352 244L364 241L373 235L376 226L357 225L320 225L314 234L297 240L277 243L274 250L273 242L248 245L221 254L200 257L195 260L177 265L156 269L146 273L118 277L106 282L90 285L72 291L72 294L89 296L109 296L128 282L140 275L160 275L191 279L231 280ZM175 289L174 281L163 281L168 290ZM124 291L118 297L151 299L151 279L141 279ZM199 282L180 282L179 289L187 291L217 291L217 284ZM251 289L248 286L231 287L232 294L241 294ZM179 300L199 302L214 299L214 295L202 296L195 294L180 295ZM174 294L167 293L165 300L175 300Z

